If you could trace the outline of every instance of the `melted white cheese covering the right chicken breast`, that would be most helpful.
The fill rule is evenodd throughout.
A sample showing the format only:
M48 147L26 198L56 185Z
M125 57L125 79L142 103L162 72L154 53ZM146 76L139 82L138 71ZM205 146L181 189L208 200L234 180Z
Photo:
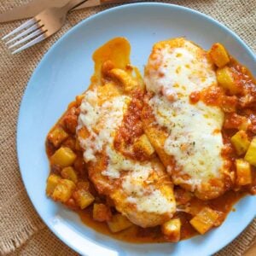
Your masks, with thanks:
M158 49L157 58L154 55L149 59L148 67L157 62L158 68L149 68L145 77L147 89L155 93L149 105L156 122L170 134L165 152L174 157L181 170L180 177L173 177L173 181L187 183L193 190L212 177L220 177L224 166L220 155L224 146L220 133L224 113L203 102L189 102L191 92L217 84L211 63L203 53L189 42L183 48L166 44ZM167 171L172 173L172 166ZM188 174L189 180L183 180L183 174Z

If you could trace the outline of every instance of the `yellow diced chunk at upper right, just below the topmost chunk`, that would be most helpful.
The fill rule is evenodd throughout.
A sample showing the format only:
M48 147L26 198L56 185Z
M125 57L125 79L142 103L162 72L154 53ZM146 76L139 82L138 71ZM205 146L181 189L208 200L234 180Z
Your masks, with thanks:
M216 75L218 84L225 90L229 90L232 95L236 95L240 92L240 89L233 78L233 74L230 71L230 67L218 68Z

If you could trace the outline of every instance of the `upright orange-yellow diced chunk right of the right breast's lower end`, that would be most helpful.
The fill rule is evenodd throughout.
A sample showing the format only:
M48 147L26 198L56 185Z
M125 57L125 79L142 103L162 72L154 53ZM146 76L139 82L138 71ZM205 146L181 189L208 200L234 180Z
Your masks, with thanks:
M246 160L236 160L236 183L240 186L252 183L251 166Z

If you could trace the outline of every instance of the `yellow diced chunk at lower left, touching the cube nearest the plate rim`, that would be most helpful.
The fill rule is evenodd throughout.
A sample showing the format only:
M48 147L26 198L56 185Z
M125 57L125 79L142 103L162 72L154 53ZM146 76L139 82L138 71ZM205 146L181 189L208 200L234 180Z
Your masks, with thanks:
M61 181L56 185L55 190L52 194L52 198L55 201L66 202L75 189L75 183L68 179L61 179Z

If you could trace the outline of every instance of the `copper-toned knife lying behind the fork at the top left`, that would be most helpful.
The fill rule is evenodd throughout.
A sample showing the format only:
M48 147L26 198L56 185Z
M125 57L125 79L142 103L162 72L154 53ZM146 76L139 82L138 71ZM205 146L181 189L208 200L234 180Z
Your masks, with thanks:
M32 0L30 3L10 9L3 14L0 14L0 23L8 22L12 20L22 20L31 18L38 15L41 11L52 7L61 7L68 3L70 0ZM77 9L89 8L107 3L128 3L139 2L134 0L88 0L81 4Z

